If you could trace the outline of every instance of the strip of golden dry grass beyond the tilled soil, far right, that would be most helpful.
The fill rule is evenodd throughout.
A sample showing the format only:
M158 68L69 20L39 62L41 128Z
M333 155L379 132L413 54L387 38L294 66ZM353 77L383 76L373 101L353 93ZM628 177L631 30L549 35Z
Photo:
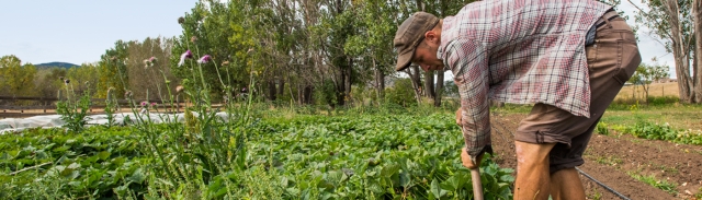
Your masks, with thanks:
M622 87L622 91L616 94L616 99L644 99L645 93L644 87L642 85L626 85ZM650 89L648 89L648 96L680 96L680 91L678 91L678 83L653 83L650 84Z

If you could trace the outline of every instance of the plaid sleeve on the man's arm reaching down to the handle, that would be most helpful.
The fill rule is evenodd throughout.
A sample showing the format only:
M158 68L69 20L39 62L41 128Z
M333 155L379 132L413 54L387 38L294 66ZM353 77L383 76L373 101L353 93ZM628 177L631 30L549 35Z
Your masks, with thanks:
M490 146L488 57L482 44L460 38L446 45L444 64L451 69L461 96L463 139L471 158Z

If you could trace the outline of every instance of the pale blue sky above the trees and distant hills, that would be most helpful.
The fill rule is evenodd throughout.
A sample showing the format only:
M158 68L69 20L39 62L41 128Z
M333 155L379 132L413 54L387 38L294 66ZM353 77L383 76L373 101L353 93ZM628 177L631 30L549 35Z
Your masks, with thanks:
M4 1L0 19L0 57L15 55L22 63L53 61L81 64L97 62L118 39L144 40L146 37L181 35L178 17L197 0L43 0ZM632 15L634 8L622 1L619 10ZM672 55L646 34L637 32L643 62L670 67L675 77ZM450 74L448 74L450 77Z

